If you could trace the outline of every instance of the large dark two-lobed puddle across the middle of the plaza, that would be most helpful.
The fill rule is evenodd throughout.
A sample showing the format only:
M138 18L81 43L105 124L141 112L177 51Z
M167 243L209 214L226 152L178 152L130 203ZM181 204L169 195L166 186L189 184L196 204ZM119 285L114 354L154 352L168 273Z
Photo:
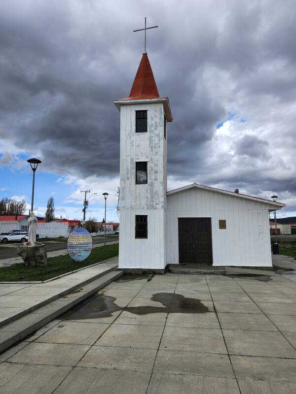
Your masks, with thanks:
M111 317L113 312L125 310L135 315L148 315L150 313L164 313L163 307L171 307L178 313L205 313L208 307L199 299L189 298L181 294L156 293L150 298L151 301L160 302L161 306L133 306L122 308L116 305L116 298L105 295L94 295L87 301L75 306L72 310L61 316L62 320L86 320Z

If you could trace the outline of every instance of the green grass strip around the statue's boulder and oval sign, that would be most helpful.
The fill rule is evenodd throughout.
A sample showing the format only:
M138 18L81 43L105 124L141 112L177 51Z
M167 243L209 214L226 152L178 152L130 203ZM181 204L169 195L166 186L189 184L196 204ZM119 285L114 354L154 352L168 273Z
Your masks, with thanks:
M0 268L0 282L43 281L115 256L118 256L118 244L94 248L86 263L74 263L67 255L49 258L47 267L27 268L25 264L13 264Z

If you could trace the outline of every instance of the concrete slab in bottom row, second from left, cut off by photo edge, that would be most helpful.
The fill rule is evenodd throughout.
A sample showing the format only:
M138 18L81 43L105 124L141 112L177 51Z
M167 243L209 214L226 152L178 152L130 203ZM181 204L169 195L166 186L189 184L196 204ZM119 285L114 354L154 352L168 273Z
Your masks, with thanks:
M146 372L76 367L54 394L146 394L149 379Z

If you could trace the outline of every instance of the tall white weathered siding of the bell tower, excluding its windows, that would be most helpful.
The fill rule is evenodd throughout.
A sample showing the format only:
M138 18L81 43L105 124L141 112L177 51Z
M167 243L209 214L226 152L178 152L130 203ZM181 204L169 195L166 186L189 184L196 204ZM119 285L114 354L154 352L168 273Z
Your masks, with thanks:
M148 110L148 132L136 133L135 111ZM165 267L167 141L162 103L120 108L119 268ZM148 184L135 184L135 162L148 162ZM135 215L148 215L148 239L135 239Z

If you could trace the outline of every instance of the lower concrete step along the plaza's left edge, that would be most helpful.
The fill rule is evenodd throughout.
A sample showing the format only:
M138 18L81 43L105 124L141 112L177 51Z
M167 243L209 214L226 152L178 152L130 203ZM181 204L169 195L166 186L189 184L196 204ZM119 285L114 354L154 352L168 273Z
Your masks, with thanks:
M103 276L100 276L92 282L84 285L82 289L80 284L78 287L81 290L74 290L72 293L62 296L59 299L55 299L47 305L41 306L26 316L23 316L0 328L0 353L14 345L16 342L24 339L26 336L37 331L37 329L45 326L62 313L73 308L85 298L97 293L103 287L119 278L122 274L122 271L104 273Z

